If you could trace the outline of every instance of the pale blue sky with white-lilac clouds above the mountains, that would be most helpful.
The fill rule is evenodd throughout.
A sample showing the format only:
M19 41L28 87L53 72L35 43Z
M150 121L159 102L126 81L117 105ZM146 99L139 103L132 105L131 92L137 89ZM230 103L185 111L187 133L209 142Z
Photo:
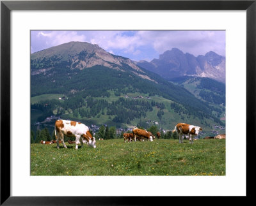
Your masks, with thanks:
M70 41L86 41L134 61L159 58L166 50L225 56L225 31L31 31L31 53Z

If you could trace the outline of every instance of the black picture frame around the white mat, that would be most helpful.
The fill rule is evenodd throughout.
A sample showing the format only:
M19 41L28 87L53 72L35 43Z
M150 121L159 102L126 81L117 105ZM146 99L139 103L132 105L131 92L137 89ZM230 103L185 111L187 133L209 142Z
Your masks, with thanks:
M253 1L1 1L1 205L152 205L154 198L124 196L10 196L10 12L12 10L246 10L246 198L255 182L256 2ZM246 131L246 132L245 132ZM157 188L156 188L157 189ZM184 188L185 189L185 188ZM188 194L189 195L189 194ZM200 196L200 193L198 193ZM186 196L186 193L184 193ZM211 196L211 193L209 193ZM243 197L242 197L243 198ZM162 201L162 200L161 200ZM168 200L167 200L168 201ZM212 199L212 201L214 201Z

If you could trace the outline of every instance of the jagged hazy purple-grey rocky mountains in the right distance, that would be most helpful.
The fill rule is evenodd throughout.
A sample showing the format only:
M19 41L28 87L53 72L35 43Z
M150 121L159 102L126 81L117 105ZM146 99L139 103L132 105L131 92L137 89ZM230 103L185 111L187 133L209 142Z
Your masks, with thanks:
M208 77L225 83L225 62L226 58L215 52L207 52L205 55L195 57L189 53L184 54L178 48L172 48L159 55L159 59L150 62L139 61L136 64L167 80L192 76Z

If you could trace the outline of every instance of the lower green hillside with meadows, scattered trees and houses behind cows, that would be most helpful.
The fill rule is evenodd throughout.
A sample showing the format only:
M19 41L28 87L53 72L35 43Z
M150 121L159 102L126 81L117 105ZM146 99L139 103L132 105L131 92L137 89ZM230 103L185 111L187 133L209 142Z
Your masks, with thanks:
M31 108L33 108L31 120L33 119L35 122L36 120L42 121L40 129L47 127L50 134L54 129L53 125L56 119L44 120L50 117L51 114L61 119L80 121L88 126L92 124L97 126L107 124L116 128L132 128L133 126L150 128L150 126L154 125L159 130L160 128L170 130L175 127L177 122L188 122L201 126L204 129L204 133L211 133L212 125L216 124L211 118L204 117L202 119L189 115L189 111L184 106L160 96L148 96L148 93L139 92L127 92L125 94L121 92L120 96L116 96L118 94L113 90L107 92L110 94L108 97L83 98L81 99L83 101L83 105L80 105L81 107L75 106L71 108L64 107L64 103L72 98L62 99L61 102L45 96L45 100L31 105ZM45 104L49 106L40 106ZM31 122L31 124L35 122ZM36 132L35 129L36 127L33 126L34 133Z

